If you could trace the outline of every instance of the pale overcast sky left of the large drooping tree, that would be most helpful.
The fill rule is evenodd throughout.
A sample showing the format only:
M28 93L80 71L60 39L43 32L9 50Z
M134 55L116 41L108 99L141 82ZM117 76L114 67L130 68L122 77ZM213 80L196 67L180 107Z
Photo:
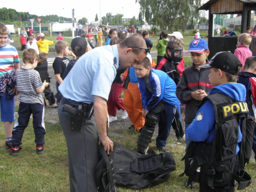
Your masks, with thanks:
M29 12L38 16L58 15L61 17L72 18L72 9L74 8L74 17L88 19L88 22L95 20L96 13L100 19L110 12L112 15L117 13L124 14L124 18L138 18L140 5L136 0L92 0L92 1L76 1L76 0L44 0L26 3L18 0L12 0L10 3L2 3L3 7L15 9L18 12ZM77 3L76 3L77 2ZM116 2L116 3L114 3ZM74 3L74 4L73 4Z

